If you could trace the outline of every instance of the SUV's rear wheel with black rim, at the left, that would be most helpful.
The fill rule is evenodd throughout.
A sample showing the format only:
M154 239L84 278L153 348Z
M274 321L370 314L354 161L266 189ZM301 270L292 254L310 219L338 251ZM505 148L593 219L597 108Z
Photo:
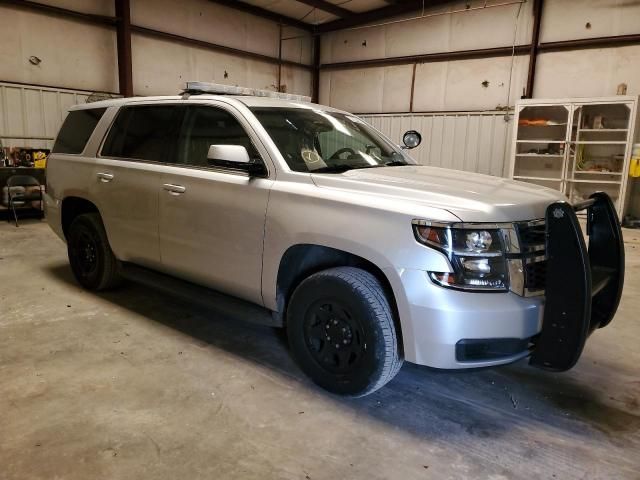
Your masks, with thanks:
M73 220L67 236L67 253L73 275L87 290L108 290L119 284L118 260L98 213L85 213Z

